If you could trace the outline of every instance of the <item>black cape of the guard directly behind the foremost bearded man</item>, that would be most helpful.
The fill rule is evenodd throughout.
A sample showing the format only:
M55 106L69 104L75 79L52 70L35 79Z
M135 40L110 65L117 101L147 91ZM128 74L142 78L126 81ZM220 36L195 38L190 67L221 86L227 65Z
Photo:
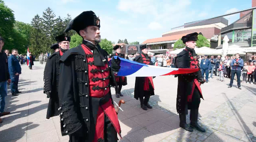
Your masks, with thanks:
M43 93L51 91L50 100L48 104L46 118L59 115L59 97L58 97L58 84L59 84L59 59L61 58L59 51L53 53L49 58L44 68L43 80L44 90Z

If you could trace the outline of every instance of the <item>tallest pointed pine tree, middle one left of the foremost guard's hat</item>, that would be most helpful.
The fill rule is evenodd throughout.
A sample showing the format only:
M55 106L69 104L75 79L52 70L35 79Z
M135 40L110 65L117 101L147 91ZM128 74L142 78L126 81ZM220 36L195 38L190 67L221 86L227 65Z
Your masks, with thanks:
M54 27L56 24L56 19L54 19L54 17L55 14L50 7L45 9L45 12L43 12L43 29L46 34L48 40L47 43L49 43L49 46L55 42Z

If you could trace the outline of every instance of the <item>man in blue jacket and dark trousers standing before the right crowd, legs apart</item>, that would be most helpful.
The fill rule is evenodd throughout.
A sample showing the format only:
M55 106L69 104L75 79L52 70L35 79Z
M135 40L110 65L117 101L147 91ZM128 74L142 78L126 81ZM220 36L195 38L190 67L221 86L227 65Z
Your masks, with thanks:
M241 69L244 66L244 60L240 58L240 54L236 53L235 54L236 58L234 58L231 63L230 66L232 66L231 69L231 79L230 79L230 84L228 86L228 88L231 88L233 85L233 81L234 81L234 76L237 76L237 87L238 89L241 89Z

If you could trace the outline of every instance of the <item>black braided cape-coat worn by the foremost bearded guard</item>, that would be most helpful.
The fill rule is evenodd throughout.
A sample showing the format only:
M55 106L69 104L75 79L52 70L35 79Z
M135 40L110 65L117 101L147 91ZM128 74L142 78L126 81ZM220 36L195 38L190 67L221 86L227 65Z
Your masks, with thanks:
M99 48L100 54L108 61L108 53ZM99 106L99 98L89 96L89 76L88 62L86 61L82 46L67 50L60 59L60 76L59 76L59 100L62 107L61 134L80 135L85 138L84 142L91 142L94 138L95 123ZM109 66L110 67L110 66ZM110 86L115 86L115 77L110 69ZM112 96L109 92L109 97ZM88 106L85 110L81 105ZM64 122L69 119L71 123ZM71 138L72 139L72 138Z

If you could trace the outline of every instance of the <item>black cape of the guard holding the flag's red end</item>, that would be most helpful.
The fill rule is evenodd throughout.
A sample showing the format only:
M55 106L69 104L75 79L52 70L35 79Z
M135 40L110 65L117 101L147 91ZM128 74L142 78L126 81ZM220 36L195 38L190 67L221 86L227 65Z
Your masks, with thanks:
M182 50L175 58L175 68L190 68L190 60L189 52ZM192 104L188 103L187 96L191 94L194 79L197 78L199 80L202 77L202 73L199 70L195 73L175 75L175 77L178 77L176 109L179 114L187 114L188 109L197 109L199 107L200 102L195 102L193 99ZM199 93L198 89L195 89L194 93Z

